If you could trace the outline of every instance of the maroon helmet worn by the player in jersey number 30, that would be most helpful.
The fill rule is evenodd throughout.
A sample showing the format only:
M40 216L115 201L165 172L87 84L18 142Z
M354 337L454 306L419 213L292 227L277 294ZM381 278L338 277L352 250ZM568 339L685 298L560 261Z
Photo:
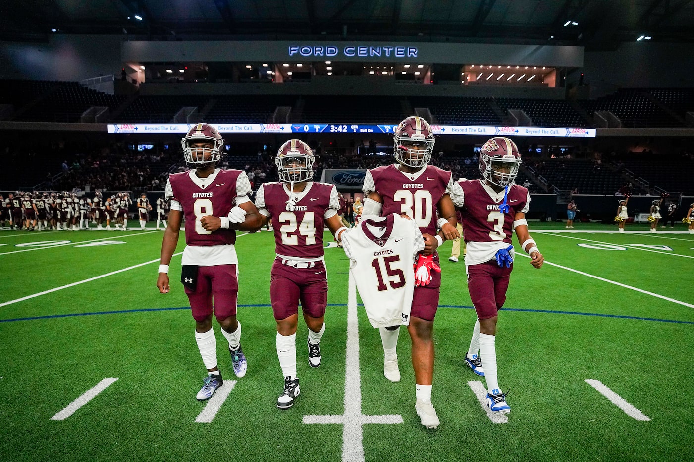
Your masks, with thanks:
M434 152L434 132L423 118L409 116L393 134L395 159L412 168L421 168L429 163Z

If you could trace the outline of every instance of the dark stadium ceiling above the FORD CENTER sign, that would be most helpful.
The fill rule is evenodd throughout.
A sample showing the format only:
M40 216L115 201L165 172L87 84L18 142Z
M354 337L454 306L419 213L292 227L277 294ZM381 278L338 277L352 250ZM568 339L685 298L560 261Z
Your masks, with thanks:
M24 0L0 39L352 39L559 43L607 50L648 35L694 41L692 0Z

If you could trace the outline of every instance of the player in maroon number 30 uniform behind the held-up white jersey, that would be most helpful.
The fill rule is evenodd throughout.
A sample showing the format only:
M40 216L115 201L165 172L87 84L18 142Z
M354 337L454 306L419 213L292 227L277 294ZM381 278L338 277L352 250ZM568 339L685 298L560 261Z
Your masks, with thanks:
M397 163L366 170L364 177L364 206L362 215L386 216L390 213L407 215L419 226L425 242L418 265L428 274L434 273L428 282L414 288L409 336L412 339L412 366L416 382L415 409L422 425L439 426L439 417L432 405L432 380L434 377L434 316L439 307L441 287L439 255L437 247L443 238L455 239L455 207L450 200L453 185L451 172L429 165L434 151L432 127L421 117L410 116L400 122L393 136ZM437 209L441 218L437 220ZM437 227L443 229L437 235ZM438 238L435 236L439 236ZM384 375L391 382L400 381L398 368L398 333L400 326L380 328L384 350Z

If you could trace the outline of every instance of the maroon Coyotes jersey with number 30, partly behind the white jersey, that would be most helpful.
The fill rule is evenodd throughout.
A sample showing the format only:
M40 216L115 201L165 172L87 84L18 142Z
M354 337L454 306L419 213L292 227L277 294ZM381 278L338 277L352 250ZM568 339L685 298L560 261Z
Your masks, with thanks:
M382 216L405 213L417 222L422 234L437 233L437 204L447 190L452 175L434 166L426 168L417 177L400 171L396 164L369 170L373 185L364 181L364 195L375 191L383 198Z

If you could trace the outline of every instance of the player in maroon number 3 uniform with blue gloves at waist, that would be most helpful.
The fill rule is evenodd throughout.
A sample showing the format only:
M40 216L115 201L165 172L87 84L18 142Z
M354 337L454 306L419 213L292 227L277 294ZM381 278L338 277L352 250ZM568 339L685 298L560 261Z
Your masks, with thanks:
M511 407L498 384L495 339L498 310L506 301L513 269L513 231L533 267L541 267L544 258L527 231L530 194L514 184L521 166L516 144L495 136L482 146L479 166L480 179L457 181L451 195L463 219L468 291L477 312L465 363L486 379L489 409L508 414Z

